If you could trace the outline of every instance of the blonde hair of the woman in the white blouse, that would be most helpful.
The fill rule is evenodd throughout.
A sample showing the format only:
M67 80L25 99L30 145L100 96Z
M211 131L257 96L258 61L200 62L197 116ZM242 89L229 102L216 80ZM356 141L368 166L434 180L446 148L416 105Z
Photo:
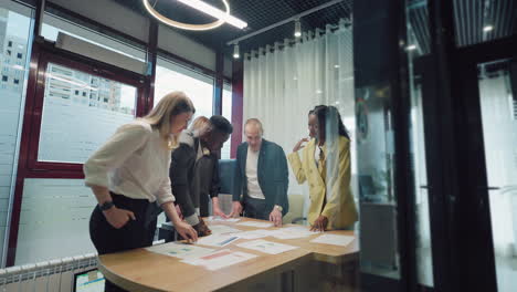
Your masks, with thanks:
M160 102L141 119L149 123L160 132L160 137L170 148L178 145L176 136L170 135L172 116L191 112L196 113L192 101L183 92L171 92L163 96Z

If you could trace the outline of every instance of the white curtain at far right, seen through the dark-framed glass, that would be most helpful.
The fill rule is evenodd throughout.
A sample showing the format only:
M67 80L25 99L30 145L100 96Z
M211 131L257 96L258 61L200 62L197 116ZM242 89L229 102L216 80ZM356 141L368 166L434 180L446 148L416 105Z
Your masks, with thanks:
M483 136L496 254L514 253L517 234L517 121L508 75L479 80ZM515 206L515 207L514 207Z

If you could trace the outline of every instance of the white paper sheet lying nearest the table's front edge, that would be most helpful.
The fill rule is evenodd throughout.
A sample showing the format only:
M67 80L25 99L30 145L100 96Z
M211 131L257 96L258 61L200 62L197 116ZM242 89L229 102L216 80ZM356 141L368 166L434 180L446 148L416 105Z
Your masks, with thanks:
M181 262L193 264L193 265L201 265L211 271L214 271L224 267L229 267L235 263L247 261L256 257L257 255L252 254L252 253L223 249L223 250L218 250L215 252L212 252L211 254L207 254L201 258L188 259Z

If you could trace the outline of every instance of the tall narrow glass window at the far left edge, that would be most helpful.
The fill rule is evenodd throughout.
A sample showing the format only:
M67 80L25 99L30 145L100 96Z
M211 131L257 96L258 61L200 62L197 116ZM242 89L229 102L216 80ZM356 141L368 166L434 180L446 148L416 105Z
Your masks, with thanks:
M11 185L17 177L18 145L21 137L21 124L23 121L23 108L25 103L25 88L12 86L7 82L13 80L17 84L23 84L27 79L29 65L21 62L20 65L11 66L11 54L13 45L23 45L18 52L27 54L27 45L31 33L31 20L33 10L17 3L15 1L0 1L0 49L6 52L0 58L1 86L0 96L0 254L4 254L4 239L9 233L8 215L10 213L10 199L14 194ZM8 49L9 48L9 49ZM3 51L4 50L4 51ZM27 70L27 71L25 71ZM19 74L19 72L23 72ZM6 248L7 249L7 248ZM0 255L2 258L2 255ZM1 259L2 263L4 259Z

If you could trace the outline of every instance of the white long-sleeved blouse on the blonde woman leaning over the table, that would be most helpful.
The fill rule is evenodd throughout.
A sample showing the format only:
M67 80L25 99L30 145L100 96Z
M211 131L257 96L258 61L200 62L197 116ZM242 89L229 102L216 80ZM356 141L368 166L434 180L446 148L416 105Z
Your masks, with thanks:
M159 205L175 201L169 178L170 149L158 129L134 121L117 132L84 164L86 186L107 187Z

